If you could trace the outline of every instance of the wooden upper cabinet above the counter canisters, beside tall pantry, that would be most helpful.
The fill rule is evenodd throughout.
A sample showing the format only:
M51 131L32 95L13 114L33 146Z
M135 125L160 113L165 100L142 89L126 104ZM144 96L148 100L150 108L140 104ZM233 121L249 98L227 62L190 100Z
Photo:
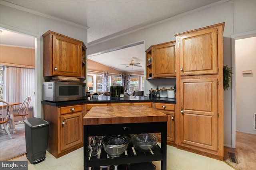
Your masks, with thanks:
M146 50L147 79L175 77L175 41L152 45ZM151 74L150 74L151 73Z

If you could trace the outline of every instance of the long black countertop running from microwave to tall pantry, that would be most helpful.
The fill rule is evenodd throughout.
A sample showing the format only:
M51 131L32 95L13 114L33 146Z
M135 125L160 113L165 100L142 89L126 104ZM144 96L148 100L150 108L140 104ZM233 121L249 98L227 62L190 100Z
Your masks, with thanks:
M131 103L131 102L161 102L161 103L171 103L176 104L175 98L150 98L150 97L140 97L140 96L129 96L124 98L102 96L100 98L88 98L84 100L71 100L65 102L50 102L43 100L42 104L47 104L51 106L70 106L77 104L90 104L90 103Z

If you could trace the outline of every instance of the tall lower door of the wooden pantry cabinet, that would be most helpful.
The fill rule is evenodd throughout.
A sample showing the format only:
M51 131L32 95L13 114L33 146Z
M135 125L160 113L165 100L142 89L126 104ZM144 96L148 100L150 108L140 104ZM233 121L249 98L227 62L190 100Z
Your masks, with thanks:
M217 151L217 86L216 78L180 80L180 145Z

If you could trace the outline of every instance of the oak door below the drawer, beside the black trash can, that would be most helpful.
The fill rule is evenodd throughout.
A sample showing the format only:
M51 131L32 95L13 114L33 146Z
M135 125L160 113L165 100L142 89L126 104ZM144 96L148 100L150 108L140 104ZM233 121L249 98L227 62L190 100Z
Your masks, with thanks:
M60 117L60 150L69 149L82 143L82 112Z

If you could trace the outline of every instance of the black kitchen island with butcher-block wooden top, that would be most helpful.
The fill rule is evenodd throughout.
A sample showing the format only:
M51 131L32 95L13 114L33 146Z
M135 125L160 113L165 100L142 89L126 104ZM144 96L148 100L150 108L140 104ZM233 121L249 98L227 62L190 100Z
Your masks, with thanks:
M161 170L166 170L166 125L168 116L148 106L102 106L92 107L83 117L84 125L84 169L105 165L132 164L140 162L161 161ZM100 157L88 153L88 138L105 135L130 135L138 133L161 133L161 148L157 145L152 152L136 154L129 146L127 155L107 158L102 148ZM97 168L95 168L97 169Z

